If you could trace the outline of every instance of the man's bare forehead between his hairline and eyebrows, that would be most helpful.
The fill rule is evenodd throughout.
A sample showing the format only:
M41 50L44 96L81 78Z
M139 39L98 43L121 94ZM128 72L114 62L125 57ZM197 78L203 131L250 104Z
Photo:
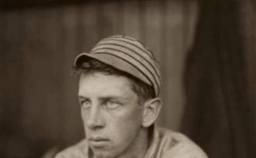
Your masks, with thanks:
M79 78L79 95L126 95L132 92L132 81L124 76L93 72L82 73Z

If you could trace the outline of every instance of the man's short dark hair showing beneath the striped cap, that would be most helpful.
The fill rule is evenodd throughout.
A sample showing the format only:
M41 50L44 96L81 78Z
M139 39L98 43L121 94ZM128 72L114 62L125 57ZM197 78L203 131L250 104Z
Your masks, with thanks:
M131 74L118 70L111 65L107 65L95 59L88 59L79 67L73 66L71 74L73 76L80 76L82 73L102 72L106 75L117 75L128 78L132 84L132 90L138 95L138 103L142 105L148 99L155 98L154 88L145 82L135 78Z

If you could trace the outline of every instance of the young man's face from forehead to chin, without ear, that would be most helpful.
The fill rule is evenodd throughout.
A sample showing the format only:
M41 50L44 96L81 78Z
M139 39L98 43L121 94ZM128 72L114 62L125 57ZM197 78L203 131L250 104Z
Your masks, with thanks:
M138 105L129 79L100 72L81 74L78 99L95 156L121 156L141 143L143 106Z

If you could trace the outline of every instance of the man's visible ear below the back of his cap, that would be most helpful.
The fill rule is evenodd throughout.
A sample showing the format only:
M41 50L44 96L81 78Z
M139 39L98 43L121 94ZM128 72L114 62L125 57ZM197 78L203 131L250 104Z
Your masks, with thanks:
M142 127L149 127L156 121L161 107L162 101L160 98L150 99L145 102Z

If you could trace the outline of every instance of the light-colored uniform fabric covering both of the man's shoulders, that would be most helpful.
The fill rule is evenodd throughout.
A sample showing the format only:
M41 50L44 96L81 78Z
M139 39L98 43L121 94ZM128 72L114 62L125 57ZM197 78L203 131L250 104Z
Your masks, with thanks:
M93 154L85 139L60 152L55 158L91 158ZM153 139L144 158L207 158L188 137L154 126Z

